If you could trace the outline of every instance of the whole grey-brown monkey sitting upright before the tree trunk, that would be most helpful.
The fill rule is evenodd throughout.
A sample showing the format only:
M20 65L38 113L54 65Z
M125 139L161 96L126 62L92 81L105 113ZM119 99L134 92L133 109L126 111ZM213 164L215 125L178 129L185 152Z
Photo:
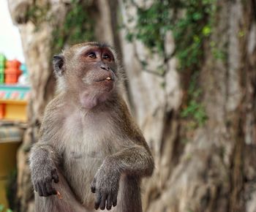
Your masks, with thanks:
M141 212L154 159L122 97L116 51L72 45L53 56L53 71L56 95L29 156L35 211Z

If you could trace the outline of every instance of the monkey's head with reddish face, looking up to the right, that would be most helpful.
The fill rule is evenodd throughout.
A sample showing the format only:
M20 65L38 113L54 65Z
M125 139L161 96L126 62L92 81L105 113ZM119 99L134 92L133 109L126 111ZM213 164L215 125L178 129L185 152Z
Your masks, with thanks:
M118 90L117 58L108 45L86 42L73 45L53 56L60 92L77 97L82 107L91 109Z

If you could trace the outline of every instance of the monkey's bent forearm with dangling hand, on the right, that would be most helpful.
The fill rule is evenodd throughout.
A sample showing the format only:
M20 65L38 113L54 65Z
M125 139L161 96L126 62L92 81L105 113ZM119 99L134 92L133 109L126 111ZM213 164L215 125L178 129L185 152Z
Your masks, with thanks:
M138 178L151 175L153 170L154 159L142 145L132 145L106 157L91 183L91 192L96 193L95 209L116 206L121 174Z

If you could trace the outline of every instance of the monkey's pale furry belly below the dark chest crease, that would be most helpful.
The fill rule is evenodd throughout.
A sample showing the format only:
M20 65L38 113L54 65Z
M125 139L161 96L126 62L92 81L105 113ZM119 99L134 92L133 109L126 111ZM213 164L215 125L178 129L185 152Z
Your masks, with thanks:
M94 153L85 156L71 153L64 162L64 175L69 186L78 200L89 210L94 208L94 194L91 192L90 185L102 162L103 158L97 157Z

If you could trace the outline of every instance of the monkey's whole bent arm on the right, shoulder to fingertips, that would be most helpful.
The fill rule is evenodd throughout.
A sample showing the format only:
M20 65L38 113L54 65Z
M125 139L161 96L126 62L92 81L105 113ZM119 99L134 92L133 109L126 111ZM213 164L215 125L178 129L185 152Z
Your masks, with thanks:
M116 154L107 156L91 183L91 192L96 193L95 209L110 210L117 204L118 185L121 175L129 175L135 179L153 173L154 159L148 145L132 121L127 105L123 99L116 101L116 128L124 135L126 145Z

